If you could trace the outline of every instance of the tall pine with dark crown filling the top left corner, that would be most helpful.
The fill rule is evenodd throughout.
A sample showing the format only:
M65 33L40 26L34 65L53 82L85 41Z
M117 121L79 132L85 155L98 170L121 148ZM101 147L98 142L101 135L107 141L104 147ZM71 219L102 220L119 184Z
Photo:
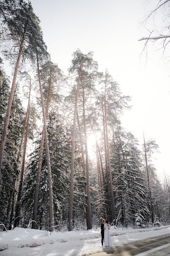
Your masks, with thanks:
M31 48L31 44L33 43L32 38L38 29L37 23L39 20L34 15L31 3L30 2L26 3L23 0L16 0L13 2L11 2L10 0L1 1L0 2L0 18L1 18L1 25L2 25L1 35L3 36L4 40L7 40L7 41L10 40L12 46L15 44L15 47L11 47L11 49L9 49L8 47L4 52L7 58L11 57L11 60L14 61L15 68L14 68L14 77L12 81L11 92L8 100L8 107L6 110L6 117L4 119L4 126L3 126L3 132L2 132L1 143L0 143L0 171L1 171L12 100L14 97L14 88L15 88L17 73L20 65L20 59L22 55L23 55L23 59L30 57L30 55L28 54L28 49ZM14 58L14 56L16 55L17 55L17 60Z

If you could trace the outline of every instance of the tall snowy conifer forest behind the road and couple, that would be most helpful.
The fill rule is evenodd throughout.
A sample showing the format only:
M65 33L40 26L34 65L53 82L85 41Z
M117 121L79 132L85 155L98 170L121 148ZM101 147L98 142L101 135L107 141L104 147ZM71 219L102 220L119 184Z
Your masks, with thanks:
M66 76L23 0L0 1L0 28L0 222L51 231L91 229L102 218L170 224L170 180L161 183L152 162L158 145L124 130L130 96L93 52L73 52Z

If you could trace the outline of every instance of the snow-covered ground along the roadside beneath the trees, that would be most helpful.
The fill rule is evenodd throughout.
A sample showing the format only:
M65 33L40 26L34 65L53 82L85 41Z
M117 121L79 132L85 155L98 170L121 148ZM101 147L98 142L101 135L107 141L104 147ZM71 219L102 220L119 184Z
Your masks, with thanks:
M150 229L111 230L112 244L170 234L170 226ZM2 250L4 247L8 248ZM2 249L1 249L2 248ZM15 228L0 233L0 256L74 256L101 251L100 229L57 232Z

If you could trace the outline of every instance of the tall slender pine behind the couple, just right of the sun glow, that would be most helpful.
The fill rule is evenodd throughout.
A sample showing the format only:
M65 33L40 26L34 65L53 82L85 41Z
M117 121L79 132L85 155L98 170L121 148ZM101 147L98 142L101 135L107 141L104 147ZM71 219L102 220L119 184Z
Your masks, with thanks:
M112 169L111 169L111 155L109 147L109 126L110 120L115 119L117 115L122 112L123 108L128 108L129 96L122 96L119 88L119 84L113 80L108 70L105 71L105 75L101 78L103 94L100 94L97 100L97 105L100 105L102 109L102 125L103 125L103 138L105 146L105 165L106 165L106 180L107 180L107 195L108 199L111 195L111 205L112 208L112 219L114 224L116 224L115 215L115 200L113 193L113 180L112 180ZM112 126L112 124L111 124Z

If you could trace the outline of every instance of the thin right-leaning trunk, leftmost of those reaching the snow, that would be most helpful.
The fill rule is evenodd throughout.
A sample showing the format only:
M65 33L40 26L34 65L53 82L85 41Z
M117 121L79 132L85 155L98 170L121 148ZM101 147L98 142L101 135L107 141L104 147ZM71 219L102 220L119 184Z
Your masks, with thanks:
M23 138L24 138L24 134L26 131L26 123L27 123L27 119L28 119L28 111L29 111L29 104L30 104L30 96L31 96L31 77L30 77L30 86L29 86L29 96L28 96L28 105L27 105L27 112L26 112L26 119L24 122L24 127L23 127L23 134L21 137L21 142L20 142L20 148L18 151L18 157L17 157L17 162L15 163L15 169L14 169L14 179L13 179L13 187L15 186L15 181L16 181L16 175L17 175L17 166L20 160L20 154L21 154L21 148L23 145ZM11 205L11 201L12 201L12 205ZM13 214L14 214L14 191L11 191L10 193L10 197L9 197L9 201L8 201L8 208L7 208L7 213L6 213L6 218L7 218L7 224L8 224L8 216L9 216L9 212L10 212L10 206L11 206L11 216L10 216L10 225L9 225L9 230L11 230L11 223L12 223L12 219L13 219Z

